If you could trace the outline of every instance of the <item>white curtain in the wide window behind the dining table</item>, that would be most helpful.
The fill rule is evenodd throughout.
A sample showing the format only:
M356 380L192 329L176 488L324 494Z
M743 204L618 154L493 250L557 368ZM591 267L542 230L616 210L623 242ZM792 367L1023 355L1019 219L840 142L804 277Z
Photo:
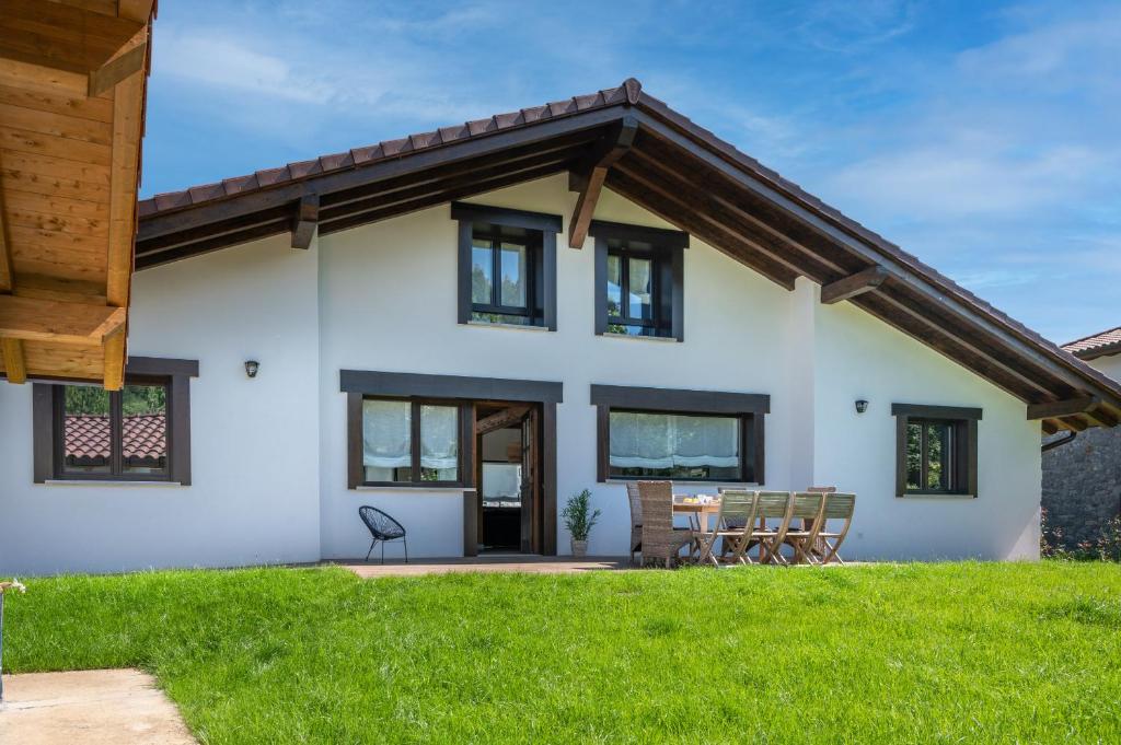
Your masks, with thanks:
M734 417L613 411L610 427L610 463L619 468L726 468L740 463Z

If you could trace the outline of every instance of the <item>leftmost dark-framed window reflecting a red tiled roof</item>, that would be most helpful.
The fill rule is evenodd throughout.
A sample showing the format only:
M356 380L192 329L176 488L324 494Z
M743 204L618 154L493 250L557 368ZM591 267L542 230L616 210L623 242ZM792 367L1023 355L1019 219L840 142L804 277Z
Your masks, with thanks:
M189 388L195 361L133 357L124 387L35 388L36 482L191 483Z

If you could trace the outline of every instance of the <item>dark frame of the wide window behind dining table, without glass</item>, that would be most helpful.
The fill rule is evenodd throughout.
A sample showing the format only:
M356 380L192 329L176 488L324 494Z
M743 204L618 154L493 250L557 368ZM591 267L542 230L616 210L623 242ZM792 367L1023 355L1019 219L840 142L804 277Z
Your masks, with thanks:
M655 476L611 474L611 412L670 413L693 417L734 417L740 420L739 478L678 478L711 484L766 483L766 415L770 397L765 393L691 391L627 385L591 387L596 407L596 479L599 483L648 481Z

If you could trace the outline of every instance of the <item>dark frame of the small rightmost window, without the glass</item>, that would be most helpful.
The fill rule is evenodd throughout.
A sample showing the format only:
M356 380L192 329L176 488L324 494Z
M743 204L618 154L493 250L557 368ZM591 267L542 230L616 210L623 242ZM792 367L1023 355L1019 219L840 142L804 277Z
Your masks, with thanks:
M983 411L967 407L924 406L915 403L892 403L896 417L896 496L962 496L976 499L978 495L978 422ZM908 485L907 430L910 425L919 426L919 488ZM948 428L949 451L946 488L930 488L928 484L927 426Z

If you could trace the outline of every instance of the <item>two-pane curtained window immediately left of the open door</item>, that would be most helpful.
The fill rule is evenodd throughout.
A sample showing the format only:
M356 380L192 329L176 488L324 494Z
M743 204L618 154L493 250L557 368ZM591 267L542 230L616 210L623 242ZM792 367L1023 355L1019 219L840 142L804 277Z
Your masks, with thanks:
M362 469L367 485L460 483L460 407L362 400Z

